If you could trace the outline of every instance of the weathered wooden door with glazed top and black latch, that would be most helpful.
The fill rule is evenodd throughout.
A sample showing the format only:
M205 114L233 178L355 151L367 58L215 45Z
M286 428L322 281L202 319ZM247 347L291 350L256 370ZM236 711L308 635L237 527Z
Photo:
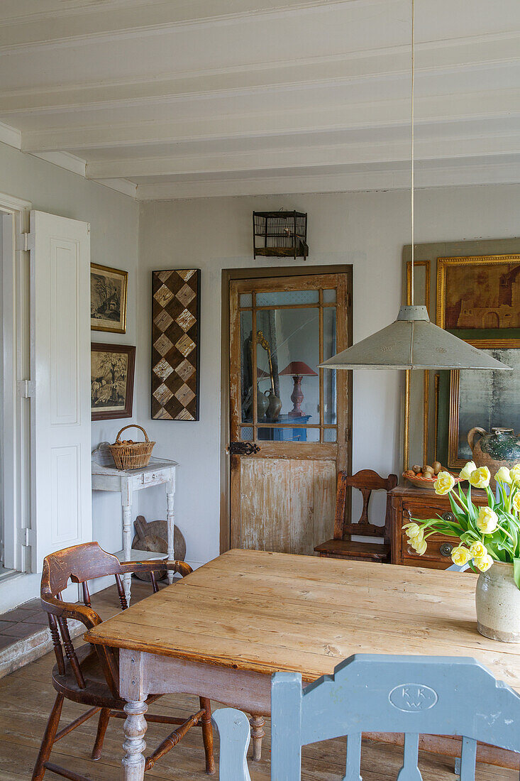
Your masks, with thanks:
M231 546L312 554L333 533L350 454L349 279L230 282ZM253 368L255 367L255 369Z

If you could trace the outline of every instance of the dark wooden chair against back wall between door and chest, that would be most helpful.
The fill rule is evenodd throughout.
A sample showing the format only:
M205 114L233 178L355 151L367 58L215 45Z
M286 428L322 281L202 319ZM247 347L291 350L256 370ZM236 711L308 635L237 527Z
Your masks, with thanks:
M328 558L351 558L359 561L390 562L390 519L391 500L388 492L397 486L397 475L381 477L372 469L362 469L355 475L340 472L337 476L336 513L332 540L316 545L315 553ZM363 496L363 509L357 523L347 522L348 488L358 488ZM386 490L385 525L375 526L369 522L369 501L373 490ZM383 537L382 545L374 542L357 542L358 537Z

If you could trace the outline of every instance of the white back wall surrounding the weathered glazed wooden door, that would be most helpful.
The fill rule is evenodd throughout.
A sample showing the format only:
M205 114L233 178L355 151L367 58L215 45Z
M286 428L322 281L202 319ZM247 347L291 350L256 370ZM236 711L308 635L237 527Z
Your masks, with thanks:
M500 185L418 191L415 241L518 235L520 186ZM401 303L401 250L410 241L408 192L312 194L258 198L208 198L141 205L138 417L157 441L156 455L180 462L176 522L187 539L187 559L205 562L219 552L221 271L292 262L257 259L251 252L251 212L308 212L309 265L354 266L354 341L394 320ZM299 265L299 263L298 263ZM151 271L202 269L201 419L198 423L150 420ZM400 471L401 375L354 376L354 469ZM141 497L141 512L164 517L161 490Z

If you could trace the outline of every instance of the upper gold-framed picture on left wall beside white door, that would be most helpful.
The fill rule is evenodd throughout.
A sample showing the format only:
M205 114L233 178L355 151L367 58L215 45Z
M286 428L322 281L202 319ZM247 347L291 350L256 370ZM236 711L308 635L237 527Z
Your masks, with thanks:
M91 263L91 330L126 333L128 272Z

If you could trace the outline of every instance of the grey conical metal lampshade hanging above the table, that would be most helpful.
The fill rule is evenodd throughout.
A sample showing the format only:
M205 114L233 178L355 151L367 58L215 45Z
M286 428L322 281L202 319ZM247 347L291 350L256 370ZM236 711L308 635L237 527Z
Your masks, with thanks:
M511 369L434 325L426 306L401 306L397 320L319 364L320 369Z

